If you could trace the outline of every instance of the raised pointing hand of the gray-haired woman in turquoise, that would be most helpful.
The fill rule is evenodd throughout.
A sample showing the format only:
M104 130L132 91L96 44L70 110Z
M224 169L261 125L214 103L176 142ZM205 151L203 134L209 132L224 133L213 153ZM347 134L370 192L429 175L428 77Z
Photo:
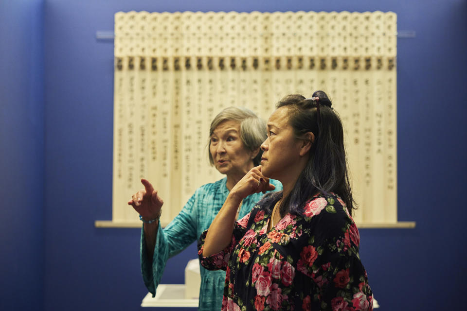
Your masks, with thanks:
M156 219L160 215L164 201L162 201L149 181L141 178L141 183L144 185L144 189L133 194L131 200L128 201L128 205L131 205L144 220Z

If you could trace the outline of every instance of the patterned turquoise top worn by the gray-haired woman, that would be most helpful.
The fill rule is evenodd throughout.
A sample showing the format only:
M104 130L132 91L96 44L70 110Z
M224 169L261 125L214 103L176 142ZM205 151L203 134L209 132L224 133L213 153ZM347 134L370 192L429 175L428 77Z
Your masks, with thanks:
M226 187L227 177L199 187L188 200L175 219L162 229L159 225L152 263L146 260L144 232L141 232L141 271L144 284L149 292L156 294L156 288L161 281L167 259L177 255L188 245L198 240L204 230L208 229L217 212L220 210L229 190ZM276 189L282 190L282 184L270 180ZM248 214L263 193L254 193L243 200L238 218ZM196 256L196 254L193 254ZM220 310L224 292L225 271L208 271L200 265L201 288L199 289L198 310Z

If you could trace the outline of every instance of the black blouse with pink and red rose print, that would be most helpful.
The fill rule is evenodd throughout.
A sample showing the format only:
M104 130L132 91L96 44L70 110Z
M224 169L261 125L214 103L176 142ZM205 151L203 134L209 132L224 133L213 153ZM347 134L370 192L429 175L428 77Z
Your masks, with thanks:
M314 196L301 216L287 214L269 232L259 206L235 223L232 243L201 264L226 270L222 310L373 310L359 258L359 231L337 195Z

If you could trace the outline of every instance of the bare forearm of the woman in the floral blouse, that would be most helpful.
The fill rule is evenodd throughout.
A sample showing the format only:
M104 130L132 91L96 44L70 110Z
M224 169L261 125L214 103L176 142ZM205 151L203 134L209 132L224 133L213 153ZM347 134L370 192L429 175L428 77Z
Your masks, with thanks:
M224 205L209 226L203 248L203 256L214 255L226 248L232 241L235 217L242 199L233 193L227 196Z

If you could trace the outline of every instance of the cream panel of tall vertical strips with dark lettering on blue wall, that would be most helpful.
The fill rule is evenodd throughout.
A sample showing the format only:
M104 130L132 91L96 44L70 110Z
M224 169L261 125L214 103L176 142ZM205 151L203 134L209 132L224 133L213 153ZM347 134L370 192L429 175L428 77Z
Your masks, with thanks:
M115 14L113 208L150 180L170 222L202 184L209 125L228 106L267 120L293 93L326 91L340 114L362 223L396 223L396 15L393 12Z

